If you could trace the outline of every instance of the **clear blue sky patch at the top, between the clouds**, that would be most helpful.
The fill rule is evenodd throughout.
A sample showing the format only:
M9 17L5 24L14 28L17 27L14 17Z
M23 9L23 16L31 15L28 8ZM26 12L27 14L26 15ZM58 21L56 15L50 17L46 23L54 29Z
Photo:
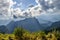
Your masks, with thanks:
M22 10L27 9L30 4L34 5L34 6L37 5L37 3L35 2L35 0L13 0L13 1L16 1L17 4L22 3L22 5L20 5L20 6L17 6L17 4L14 5L14 8L19 7Z

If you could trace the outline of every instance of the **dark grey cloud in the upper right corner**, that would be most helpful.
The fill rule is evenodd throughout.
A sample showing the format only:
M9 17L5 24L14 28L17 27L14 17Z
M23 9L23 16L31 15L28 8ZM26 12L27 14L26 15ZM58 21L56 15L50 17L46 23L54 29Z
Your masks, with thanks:
M60 0L36 0L36 2L44 11L47 11L49 9L54 10L54 8L56 8L55 10L60 9Z

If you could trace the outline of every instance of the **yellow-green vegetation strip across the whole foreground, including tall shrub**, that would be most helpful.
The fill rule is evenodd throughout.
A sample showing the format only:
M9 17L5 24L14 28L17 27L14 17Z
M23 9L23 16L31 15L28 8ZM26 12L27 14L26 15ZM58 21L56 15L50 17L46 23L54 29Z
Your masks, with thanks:
M60 31L29 32L23 28L16 28L12 34L0 33L0 40L60 40Z

